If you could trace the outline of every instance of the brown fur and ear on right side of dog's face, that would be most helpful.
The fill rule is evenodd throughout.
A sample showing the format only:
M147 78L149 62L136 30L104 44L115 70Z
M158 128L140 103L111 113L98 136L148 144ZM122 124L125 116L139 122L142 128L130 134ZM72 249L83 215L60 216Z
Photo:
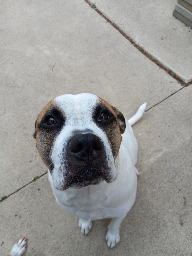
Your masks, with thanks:
M99 100L100 100L100 103L106 106L106 108L109 109L114 116L114 120L112 120L112 122L110 123L106 123L106 125L103 125L102 129L105 131L105 134L111 146L113 157L115 159L119 153L119 148L122 141L121 134L124 133L125 131L125 118L120 111L112 107L108 102L106 102L100 97L99 97ZM121 122L120 122L120 118L121 118Z

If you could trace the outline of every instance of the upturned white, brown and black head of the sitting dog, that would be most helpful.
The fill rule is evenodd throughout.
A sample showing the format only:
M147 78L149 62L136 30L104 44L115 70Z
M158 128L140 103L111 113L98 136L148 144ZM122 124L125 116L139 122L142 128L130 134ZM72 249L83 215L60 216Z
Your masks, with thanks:
M88 93L50 101L35 123L36 146L58 190L113 182L125 119Z

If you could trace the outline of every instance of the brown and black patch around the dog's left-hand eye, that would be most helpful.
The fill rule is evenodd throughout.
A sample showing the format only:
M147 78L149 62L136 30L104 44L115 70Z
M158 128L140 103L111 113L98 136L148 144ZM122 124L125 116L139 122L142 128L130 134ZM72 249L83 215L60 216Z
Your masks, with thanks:
M47 121L50 118L53 118L56 123L48 125ZM35 122L35 133L33 136L36 138L36 147L41 159L50 171L53 169L51 161L52 146L63 124L64 113L54 100L50 101L42 109Z

